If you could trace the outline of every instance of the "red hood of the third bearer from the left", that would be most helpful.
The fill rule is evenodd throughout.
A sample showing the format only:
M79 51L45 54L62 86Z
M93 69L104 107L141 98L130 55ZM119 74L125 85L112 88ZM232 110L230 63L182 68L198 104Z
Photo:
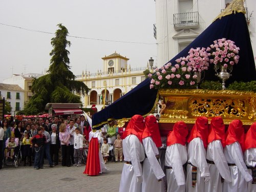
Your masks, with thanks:
M185 124L184 121L178 121L174 124L173 131L169 132L167 136L166 145L170 146L175 143L185 145L187 135L187 125Z

